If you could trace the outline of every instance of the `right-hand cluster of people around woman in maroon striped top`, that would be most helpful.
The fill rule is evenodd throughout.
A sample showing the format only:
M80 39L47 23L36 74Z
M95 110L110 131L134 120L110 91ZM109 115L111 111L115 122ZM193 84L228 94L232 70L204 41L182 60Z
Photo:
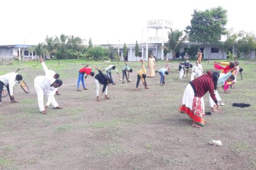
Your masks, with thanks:
M209 92L210 97L210 107L213 112L221 113L220 105L224 105L224 102L219 96L217 86L221 84L224 87L224 92L229 93L227 89L229 84L234 84L236 76L239 72L239 63L218 63L214 62L214 67L216 70L221 70L219 72L207 72L204 75L198 75L196 79L192 78L194 73L191 73L191 81L187 85L185 92L183 94L182 103L179 107L180 113L187 114L190 118L193 119L193 127L202 127L205 124L205 107L204 107L204 95ZM196 61L196 65L199 64L199 61ZM224 65L226 67L220 66ZM202 68L194 68L194 70L201 70ZM235 81L236 82L236 81Z

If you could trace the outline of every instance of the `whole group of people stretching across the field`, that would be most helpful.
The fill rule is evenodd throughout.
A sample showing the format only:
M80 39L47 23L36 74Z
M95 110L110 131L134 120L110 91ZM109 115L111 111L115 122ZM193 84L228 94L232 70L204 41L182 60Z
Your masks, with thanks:
M155 60L148 61L148 68L155 69ZM62 86L62 80L59 80L60 75L55 73L52 70L49 70L46 64L43 61L43 58L40 58L41 65L44 70L44 75L40 75L35 77L34 80L34 87L35 91L37 92L37 99L38 99L38 107L40 109L41 114L46 114L46 110L48 109L49 105L52 104L54 109L63 109L63 107L59 106L57 101L54 98L55 94L59 94L57 92L58 88ZM137 83L135 90L138 90L138 86L140 81L142 82L145 89L149 89L148 84L146 83L147 71L144 66L144 61L140 60L141 62L141 69L137 72ZM127 66L127 62L124 61L125 66L122 68L123 78L120 77L116 66L110 65L105 69L99 69L98 67L94 66L96 70L98 70L98 74L95 75L92 72L90 66L85 66L84 68L79 70L78 80L77 80L77 91L81 91L79 89L80 81L82 81L82 86L84 90L88 90L87 86L85 86L84 79L90 75L94 77L94 82L96 84L96 101L101 101L99 97L99 86L100 84L103 85L101 95L105 94L105 99L109 99L107 95L107 87L109 84L115 85L112 77L112 70L115 70L118 73L119 80L124 83L124 78L126 78L127 83L131 80L129 79L130 73L133 72L129 66ZM224 65L226 67L222 67ZM179 112L188 114L189 117L193 119L193 127L202 127L205 124L204 115L205 115L205 107L204 107L204 95L209 92L210 93L210 107L213 112L221 112L220 106L224 105L224 102L221 100L219 96L217 86L218 84L222 85L224 88L225 93L229 93L229 86L234 84L236 80L236 75L239 72L239 63L218 63L215 62L214 67L216 70L221 70L219 72L207 72L203 74L203 69L199 61L196 61L196 64L192 67L191 73L191 81L187 85L185 92L183 94L182 103L179 107ZM180 75L184 75L184 68L191 67L191 64L188 60L183 63L180 63ZM148 77L155 77L155 71L149 69ZM183 72L182 72L183 70ZM106 71L106 73L103 73ZM165 85L165 75L169 74L168 64L166 67L158 70L160 75L160 86ZM94 76L95 75L95 76ZM84 78L85 77L85 78ZM196 78L197 77L197 78ZM18 75L17 73L7 73L5 75L0 76L0 92L4 86L7 87L7 91L10 96L10 100L12 103L18 102L15 100L13 96L13 86L15 85L16 81L21 81L23 79L22 75ZM236 82L236 81L235 81ZM48 97L48 101L46 105L43 103L43 98ZM0 106L1 103L1 93L0 93Z

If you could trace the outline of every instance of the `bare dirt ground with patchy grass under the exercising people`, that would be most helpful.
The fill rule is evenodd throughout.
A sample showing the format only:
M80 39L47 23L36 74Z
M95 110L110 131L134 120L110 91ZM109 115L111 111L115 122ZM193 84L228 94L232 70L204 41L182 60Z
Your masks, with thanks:
M24 94L16 84L15 97L20 102L2 98L0 169L256 169L255 63L241 61L244 80L238 77L230 94L219 88L226 103L223 114L205 115L201 129L191 127L188 115L177 112L190 81L190 73L179 80L177 62L171 64L165 86L158 85L156 73L155 78L146 78L150 89L140 84L138 92L134 89L139 63L131 64L131 83L122 84L113 72L117 85L108 87L111 99L101 102L96 101L92 77L85 80L89 90L76 91L82 64L46 64L63 80L62 95L55 99L64 109L51 106L47 115L39 113L33 81L43 70L33 63L21 65L30 93ZM157 69L163 66L158 63ZM0 72L16 67L0 66ZM206 63L203 67L212 69ZM210 111L208 94L204 100L205 110ZM252 106L233 107L232 103ZM211 146L210 140L221 140L223 146Z

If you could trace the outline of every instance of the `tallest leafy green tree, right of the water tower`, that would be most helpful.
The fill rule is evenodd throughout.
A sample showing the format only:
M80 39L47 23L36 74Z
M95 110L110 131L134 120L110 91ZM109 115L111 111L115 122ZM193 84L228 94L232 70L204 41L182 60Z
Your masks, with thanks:
M204 49L207 43L215 44L226 34L227 10L222 7L205 11L194 10L191 16L191 25L187 26L189 40L202 42Z

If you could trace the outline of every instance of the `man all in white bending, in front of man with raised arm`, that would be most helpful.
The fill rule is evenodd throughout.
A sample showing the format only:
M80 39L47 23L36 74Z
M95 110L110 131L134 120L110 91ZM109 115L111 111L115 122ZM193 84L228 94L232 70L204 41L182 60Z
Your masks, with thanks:
M49 104L52 104L54 109L63 109L63 107L60 107L54 98L57 88L62 86L62 80L55 80L54 77L48 77L46 75L38 76L34 80L34 86L35 91L37 92L38 106L41 114L46 114L46 109L48 108ZM46 107L44 107L43 104L44 96L48 97Z

